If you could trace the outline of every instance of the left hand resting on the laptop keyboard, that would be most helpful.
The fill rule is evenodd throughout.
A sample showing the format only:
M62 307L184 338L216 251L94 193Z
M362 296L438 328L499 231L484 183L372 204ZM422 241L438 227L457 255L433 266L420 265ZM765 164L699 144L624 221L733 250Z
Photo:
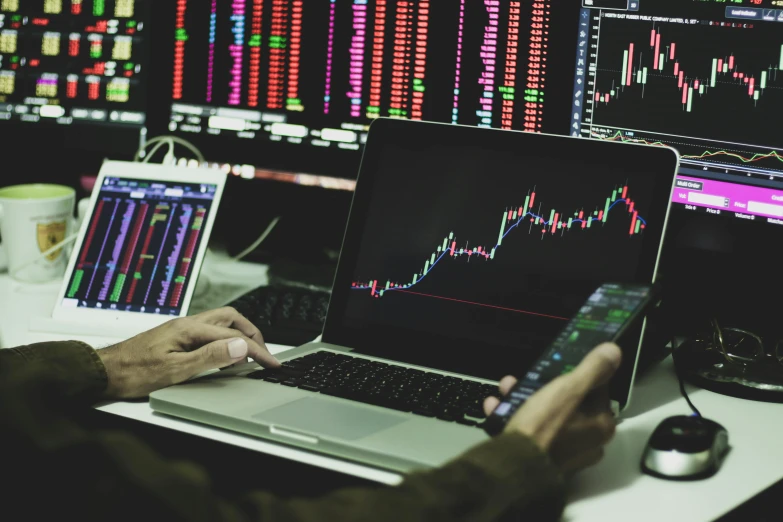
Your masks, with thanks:
M261 332L233 308L173 319L114 346L98 350L106 367L107 398L146 397L199 373L244 363L266 368L280 363Z

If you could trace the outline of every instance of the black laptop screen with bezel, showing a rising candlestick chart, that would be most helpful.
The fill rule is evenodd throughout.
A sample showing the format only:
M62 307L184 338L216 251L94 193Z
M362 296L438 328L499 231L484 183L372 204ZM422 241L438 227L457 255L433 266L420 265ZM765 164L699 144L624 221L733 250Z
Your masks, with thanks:
M673 152L423 130L376 136L365 156L327 342L540 347L600 284L652 281Z

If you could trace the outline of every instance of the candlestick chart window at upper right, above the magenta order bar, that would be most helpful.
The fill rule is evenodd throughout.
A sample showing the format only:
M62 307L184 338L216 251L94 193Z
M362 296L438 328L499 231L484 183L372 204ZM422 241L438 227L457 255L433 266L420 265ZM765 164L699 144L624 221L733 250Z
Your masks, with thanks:
M765 119L783 111L783 11L641 2L585 9L583 136L673 145L684 160L783 171ZM767 12L765 17L762 17Z

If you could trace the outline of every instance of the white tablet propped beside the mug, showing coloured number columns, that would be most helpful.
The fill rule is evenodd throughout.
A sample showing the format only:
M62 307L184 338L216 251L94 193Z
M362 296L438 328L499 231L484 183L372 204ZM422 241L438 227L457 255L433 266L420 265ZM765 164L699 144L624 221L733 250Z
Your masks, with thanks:
M218 170L105 162L51 318L31 330L127 338L187 315L225 183Z

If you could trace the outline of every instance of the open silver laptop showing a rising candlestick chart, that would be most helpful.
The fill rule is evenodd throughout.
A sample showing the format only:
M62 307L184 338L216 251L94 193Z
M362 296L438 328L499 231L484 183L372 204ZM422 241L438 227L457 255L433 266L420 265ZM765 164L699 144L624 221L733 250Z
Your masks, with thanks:
M488 438L483 399L603 282L656 278L669 148L379 119L322 339L153 393L160 413L384 469ZM317 219L317 216L313 216ZM630 400L643 328L612 385Z

